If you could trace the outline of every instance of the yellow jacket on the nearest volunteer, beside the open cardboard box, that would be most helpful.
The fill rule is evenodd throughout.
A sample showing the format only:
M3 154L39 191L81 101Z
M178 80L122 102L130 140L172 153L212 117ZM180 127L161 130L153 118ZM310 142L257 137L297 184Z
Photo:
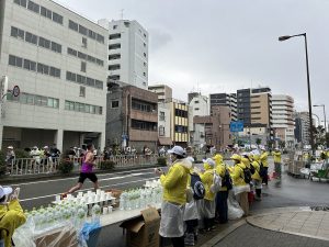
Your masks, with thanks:
M186 203L186 184L192 162L185 159L177 160L167 175L161 175L163 201L183 205Z

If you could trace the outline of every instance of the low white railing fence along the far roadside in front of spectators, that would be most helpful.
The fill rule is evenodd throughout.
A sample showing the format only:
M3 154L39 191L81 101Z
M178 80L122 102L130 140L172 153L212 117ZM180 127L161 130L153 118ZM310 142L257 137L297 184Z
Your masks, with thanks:
M113 161L115 168L125 167L143 167L146 165L156 165L158 162L158 155L120 155L111 156L106 161ZM70 157L69 161L73 162L73 171L79 171L82 158ZM58 172L60 158L22 158L13 159L8 165L8 172L11 176L24 176L24 175L45 175ZM95 157L94 169L99 170L102 161L105 161L102 156Z

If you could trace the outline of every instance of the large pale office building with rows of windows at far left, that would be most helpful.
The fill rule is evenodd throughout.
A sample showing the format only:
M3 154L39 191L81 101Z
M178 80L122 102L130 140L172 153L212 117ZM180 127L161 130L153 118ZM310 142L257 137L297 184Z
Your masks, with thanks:
M0 76L8 78L2 145L104 146L106 36L50 0L0 1ZM14 85L19 97L11 94Z

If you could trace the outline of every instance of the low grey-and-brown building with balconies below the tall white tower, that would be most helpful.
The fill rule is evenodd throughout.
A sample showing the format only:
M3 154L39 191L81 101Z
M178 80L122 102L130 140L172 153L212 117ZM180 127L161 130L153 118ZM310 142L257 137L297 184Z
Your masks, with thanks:
M112 88L107 93L106 145L144 146L152 151L158 143L158 96L133 86Z

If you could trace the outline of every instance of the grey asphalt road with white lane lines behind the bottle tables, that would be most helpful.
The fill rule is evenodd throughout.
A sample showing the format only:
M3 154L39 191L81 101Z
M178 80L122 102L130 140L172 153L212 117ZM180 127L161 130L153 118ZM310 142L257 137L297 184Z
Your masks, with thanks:
M140 187L146 180L154 179L154 168L121 171L115 173L102 173L98 175L101 189L128 189ZM25 182L11 184L12 187L21 188L21 203L26 210L31 210L34 206L47 205L55 200L55 195L67 191L75 186L78 181L78 177L53 179L35 182ZM86 180L81 191L93 189L92 183Z

